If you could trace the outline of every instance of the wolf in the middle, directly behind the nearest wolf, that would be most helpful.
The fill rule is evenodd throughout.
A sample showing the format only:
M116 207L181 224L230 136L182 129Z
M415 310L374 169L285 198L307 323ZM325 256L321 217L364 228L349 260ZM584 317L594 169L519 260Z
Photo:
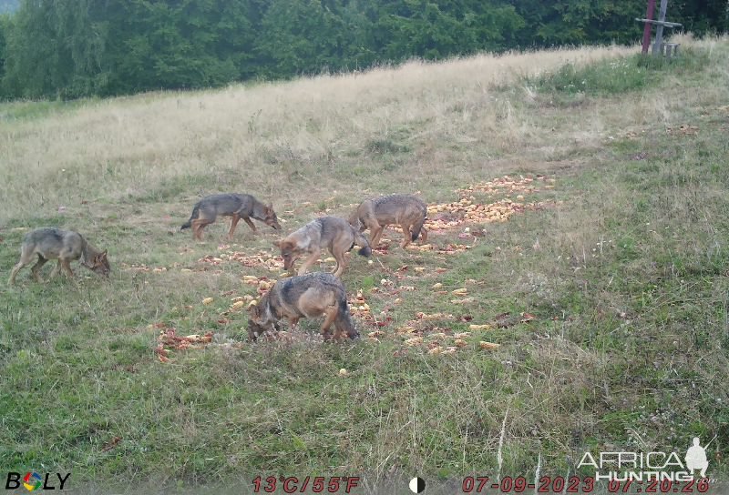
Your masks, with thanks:
M351 251L355 244L361 248L357 251L361 256L368 257L372 254L367 238L344 218L339 217L317 218L273 244L281 249L283 268L289 270L291 275L294 261L303 253L309 253L309 257L299 268L299 275L306 273L321 255L322 249L327 248L336 259L334 277L342 275L346 267L344 253Z

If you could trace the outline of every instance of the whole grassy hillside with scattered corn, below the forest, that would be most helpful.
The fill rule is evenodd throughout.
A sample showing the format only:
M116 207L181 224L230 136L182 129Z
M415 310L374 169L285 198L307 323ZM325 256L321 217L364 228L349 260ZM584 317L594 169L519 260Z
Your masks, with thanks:
M0 466L99 492L240 493L259 474L404 492L715 436L725 479L729 40L682 44L672 64L583 48L0 105L5 276L42 226L113 268L0 284ZM278 234L179 231L233 191L271 200L284 233L416 193L428 244L389 229L371 264L353 251L361 341L323 344L310 320L251 344L235 302L280 276ZM172 328L212 341L168 338L162 362Z

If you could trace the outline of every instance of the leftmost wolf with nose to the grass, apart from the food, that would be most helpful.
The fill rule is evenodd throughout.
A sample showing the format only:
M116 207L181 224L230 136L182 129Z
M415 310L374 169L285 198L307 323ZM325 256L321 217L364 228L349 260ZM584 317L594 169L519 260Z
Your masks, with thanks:
M78 258L81 259L82 266L104 277L108 278L111 271L106 249L99 251L94 248L78 232L55 227L43 227L36 228L36 230L28 232L26 237L23 237L23 245L20 248L20 261L17 262L17 265L10 273L8 285L15 284L17 272L33 261L33 255L38 256L38 262L33 268L30 268L30 271L38 282L43 281L39 272L49 259L58 259L58 264L51 272L51 277L56 277L58 272L63 270L68 278L73 278L74 272L71 270L70 262Z

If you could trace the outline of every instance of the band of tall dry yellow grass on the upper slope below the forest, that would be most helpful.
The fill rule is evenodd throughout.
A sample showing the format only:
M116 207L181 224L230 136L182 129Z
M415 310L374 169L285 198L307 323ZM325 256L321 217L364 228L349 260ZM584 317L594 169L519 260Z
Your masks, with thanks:
M232 170L240 174L234 189L282 196L287 176L301 164L356 162L368 143L403 129L423 143L416 169L404 174L412 181L414 171L454 158L428 144L436 139L462 146L486 140L498 155L544 138L529 114L493 96L493 86L568 61L579 65L634 51L610 46L411 62L363 74L91 101L43 119L2 122L0 173L8 187L0 224L41 207L143 195L150 185L185 174L224 180ZM455 119L454 110L460 113ZM600 129L595 123L575 132ZM198 192L190 190L190 197Z

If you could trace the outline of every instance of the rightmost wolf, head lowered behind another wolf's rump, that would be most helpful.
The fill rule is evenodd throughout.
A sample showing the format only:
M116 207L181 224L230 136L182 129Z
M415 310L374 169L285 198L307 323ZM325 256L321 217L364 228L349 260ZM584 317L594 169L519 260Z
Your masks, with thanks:
M406 248L411 241L422 235L427 241L427 230L423 227L427 219L427 206L418 197L409 194L392 194L363 201L352 212L349 223L360 232L370 229L370 246L376 248L382 233L390 224L403 229L405 238L400 243Z

